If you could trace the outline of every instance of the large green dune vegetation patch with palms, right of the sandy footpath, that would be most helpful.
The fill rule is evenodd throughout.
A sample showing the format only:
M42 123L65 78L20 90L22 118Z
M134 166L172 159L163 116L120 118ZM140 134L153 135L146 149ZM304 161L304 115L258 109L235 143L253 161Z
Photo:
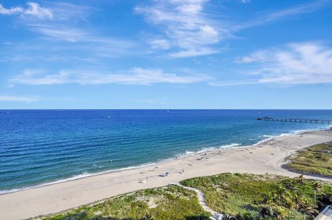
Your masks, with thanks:
M313 219L330 204L332 186L274 175L230 174L186 179L199 188L213 210L235 219Z

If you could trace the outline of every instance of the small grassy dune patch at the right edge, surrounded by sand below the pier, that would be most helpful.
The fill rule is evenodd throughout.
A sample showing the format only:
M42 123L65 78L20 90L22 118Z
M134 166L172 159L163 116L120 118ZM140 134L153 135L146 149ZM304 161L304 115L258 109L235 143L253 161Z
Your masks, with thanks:
M332 177L332 142L300 150L288 160L285 167L294 172Z

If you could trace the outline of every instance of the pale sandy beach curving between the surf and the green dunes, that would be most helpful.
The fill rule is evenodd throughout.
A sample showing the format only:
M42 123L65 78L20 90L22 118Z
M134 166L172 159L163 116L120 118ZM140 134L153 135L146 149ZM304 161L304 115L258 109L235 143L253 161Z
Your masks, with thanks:
M85 177L0 195L0 219L27 219L93 203L125 192L166 186L190 177L221 172L298 174L282 168L296 150L332 141L332 130L277 137L246 148L226 148L160 162L151 166ZM182 173L184 170L184 174ZM164 177L165 172L171 172ZM317 177L308 177L324 179ZM140 183L144 180L145 183ZM329 180L329 179L324 179Z

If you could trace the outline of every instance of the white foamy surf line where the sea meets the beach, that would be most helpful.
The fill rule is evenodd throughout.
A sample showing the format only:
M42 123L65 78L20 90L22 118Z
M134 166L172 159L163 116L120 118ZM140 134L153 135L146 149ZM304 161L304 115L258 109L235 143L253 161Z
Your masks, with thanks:
M302 134L302 133L305 133L305 132L314 132L314 131L318 131L318 130L331 130L331 129L332 129L332 126L329 126L329 127L326 127L326 128L317 128L315 130L295 130L295 131L290 131L288 133L282 133L282 134L275 135L275 136L273 136L273 135L270 136L269 135L270 137L266 137L266 139L258 141L257 143L254 143L254 144L249 145L249 146L241 146L241 143L230 143L230 144L226 144L224 146L219 146L219 147L202 148L201 150L198 150L196 152L192 152L192 153L189 153L189 154L187 154L186 152L191 152L191 151L190 150L185 150L185 153L179 154L178 157L160 159L159 161L155 161L155 162L147 162L147 163L138 164L136 166L129 166L127 168L118 168L118 169L113 169L113 170L111 169L111 170L105 170L105 171L96 172L96 173L86 173L86 174L82 173L82 174L79 174L79 175L75 175L73 177L67 177L65 179L58 179L56 181L40 183L40 184L37 184L37 185L34 185L34 186L26 186L26 187L22 187L22 188L13 188L13 189L10 189L10 190L0 190L0 196L3 195L3 194L10 194L10 193L13 193L13 192L21 192L21 191L24 191L24 190L42 188L42 187L45 187L45 186L52 186L52 185L55 185L55 184L64 183L64 182L68 182L68 181L75 181L77 179L95 177L95 176L98 176L98 175L107 174L107 173L111 173L111 172L119 172L119 171L123 171L123 170L136 170L136 169L139 169L139 168L145 168L147 166L156 166L156 165L158 165L158 163L163 163L163 162L166 162L166 161L173 161L175 159L182 159L182 158L185 158L185 157L190 157L190 156L194 156L194 155L197 155L197 154L202 154L202 153L205 153L205 152L213 152L214 150L251 148L251 147L255 147L259 144L264 144L267 141L277 139L279 137L290 137L290 136L297 135L297 134Z

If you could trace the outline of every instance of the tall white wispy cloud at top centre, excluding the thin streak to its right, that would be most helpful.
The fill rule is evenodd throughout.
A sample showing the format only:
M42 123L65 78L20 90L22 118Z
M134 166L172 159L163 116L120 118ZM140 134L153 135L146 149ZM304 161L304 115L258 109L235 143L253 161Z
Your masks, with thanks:
M203 0L156 1L152 6L138 6L135 10L163 34L158 41L151 39L152 48L174 48L177 51L170 53L171 57L193 57L218 52L210 45L230 35L203 12L204 3Z

